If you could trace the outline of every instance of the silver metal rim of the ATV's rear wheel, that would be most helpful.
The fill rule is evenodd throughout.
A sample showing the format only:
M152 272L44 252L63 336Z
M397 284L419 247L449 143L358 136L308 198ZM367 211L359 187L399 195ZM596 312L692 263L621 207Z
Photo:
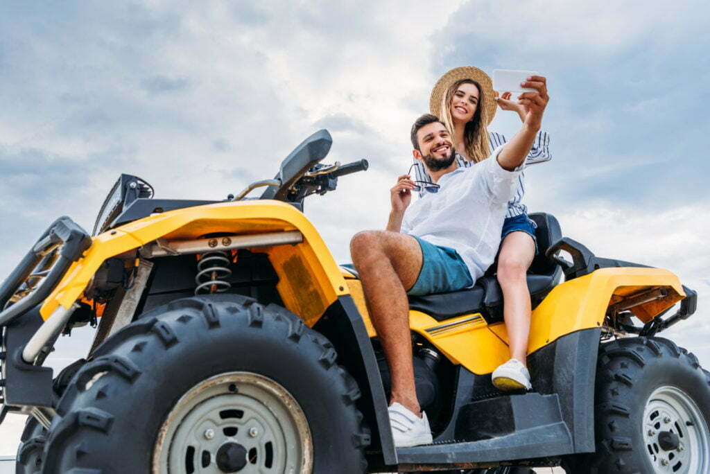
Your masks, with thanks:
M709 440L705 418L685 392L664 386L648 397L643 412L643 441L656 473L708 472Z

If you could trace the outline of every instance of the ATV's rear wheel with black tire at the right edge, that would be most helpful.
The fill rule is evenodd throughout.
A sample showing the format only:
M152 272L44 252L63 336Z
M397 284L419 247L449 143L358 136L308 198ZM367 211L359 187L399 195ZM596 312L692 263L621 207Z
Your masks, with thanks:
M664 338L599 348L596 453L567 458L568 473L710 472L710 376Z

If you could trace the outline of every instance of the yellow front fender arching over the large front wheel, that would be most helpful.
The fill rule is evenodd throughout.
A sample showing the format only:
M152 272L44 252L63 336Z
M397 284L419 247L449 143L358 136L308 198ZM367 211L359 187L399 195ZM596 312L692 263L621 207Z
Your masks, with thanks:
M275 270L280 279L288 309L300 314L307 322L315 322L318 311L329 306L341 294L347 294L345 280L331 253L315 227L300 211L278 201L240 201L207 204L156 214L131 222L93 238L84 258L75 262L40 309L44 319L61 304L69 308L89 284L107 258L133 250L165 237L166 240L191 240L207 233L234 234L298 230L303 242L294 246L261 248L275 258ZM295 270L296 273L289 271ZM299 272L300 271L300 272ZM306 284L302 278L306 275ZM301 286L300 286L301 285ZM315 299L315 301L312 301Z

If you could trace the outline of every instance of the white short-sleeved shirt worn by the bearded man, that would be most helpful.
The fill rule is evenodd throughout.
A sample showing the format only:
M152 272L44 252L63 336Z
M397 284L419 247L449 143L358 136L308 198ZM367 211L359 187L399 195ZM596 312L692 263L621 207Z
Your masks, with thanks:
M476 166L458 167L440 177L439 192L427 192L410 204L402 221L402 233L456 250L474 282L496 258L508 201L525 167L523 162L514 171L504 170L498 163L502 149Z

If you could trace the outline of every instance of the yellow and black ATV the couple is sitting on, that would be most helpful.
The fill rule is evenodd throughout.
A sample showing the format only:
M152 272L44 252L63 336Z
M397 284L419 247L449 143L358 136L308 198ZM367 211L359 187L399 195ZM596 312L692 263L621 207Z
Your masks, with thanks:
M595 257L547 214L531 216L535 392L491 384L508 358L494 276L411 297L435 443L395 449L360 282L302 213L367 168L320 164L330 145L315 133L223 202L153 199L122 175L94 236L67 217L40 236L0 287L0 421L30 415L18 473L710 472L710 377L656 337L693 314L695 292ZM84 324L97 325L86 359L53 374L59 334Z

